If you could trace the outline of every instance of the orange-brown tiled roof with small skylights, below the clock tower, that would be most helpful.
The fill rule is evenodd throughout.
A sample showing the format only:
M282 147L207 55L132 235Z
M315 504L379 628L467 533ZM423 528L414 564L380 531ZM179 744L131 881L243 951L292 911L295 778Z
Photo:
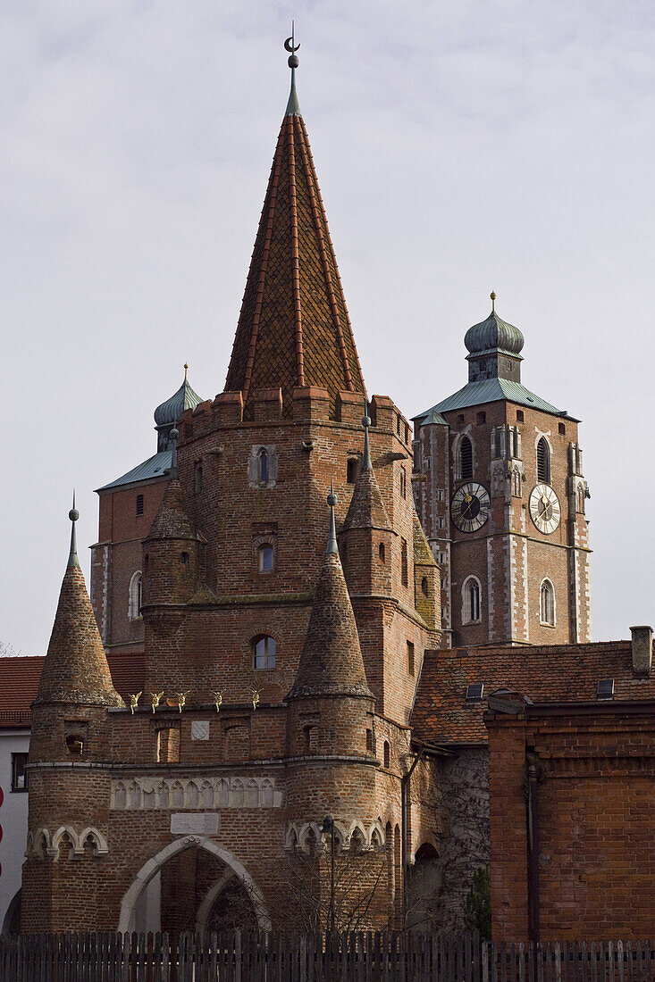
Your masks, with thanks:
M426 651L411 725L432 743L486 741L487 696L513 689L533 702L596 702L601 679L614 679L614 701L655 699L655 673L632 674L629 641L548 647L455 648ZM483 682L482 702L466 686Z

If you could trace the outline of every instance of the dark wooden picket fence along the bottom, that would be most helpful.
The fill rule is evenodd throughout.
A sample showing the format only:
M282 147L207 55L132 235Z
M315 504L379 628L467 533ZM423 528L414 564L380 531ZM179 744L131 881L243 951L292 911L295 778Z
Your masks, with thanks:
M0 982L655 982L648 941L262 932L0 936Z

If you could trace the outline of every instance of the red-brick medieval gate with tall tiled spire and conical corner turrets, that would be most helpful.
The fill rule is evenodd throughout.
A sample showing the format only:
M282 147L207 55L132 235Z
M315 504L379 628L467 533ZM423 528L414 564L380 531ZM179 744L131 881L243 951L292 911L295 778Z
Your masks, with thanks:
M203 930L237 909L267 927L293 913L290 862L316 860L325 900L330 832L365 864L358 890L379 865L381 926L402 905L402 815L408 858L437 831L401 779L440 576L408 422L387 397L366 408L297 64L225 391L167 422L130 706L79 568L64 579L43 679L70 684L42 681L33 707L27 931Z

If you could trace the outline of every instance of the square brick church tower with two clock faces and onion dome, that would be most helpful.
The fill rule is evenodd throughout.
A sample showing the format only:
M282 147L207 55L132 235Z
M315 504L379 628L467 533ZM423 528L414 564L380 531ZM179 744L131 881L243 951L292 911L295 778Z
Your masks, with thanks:
M579 420L521 384L523 335L491 299L464 338L468 384L414 420L414 496L442 568L442 644L589 641Z

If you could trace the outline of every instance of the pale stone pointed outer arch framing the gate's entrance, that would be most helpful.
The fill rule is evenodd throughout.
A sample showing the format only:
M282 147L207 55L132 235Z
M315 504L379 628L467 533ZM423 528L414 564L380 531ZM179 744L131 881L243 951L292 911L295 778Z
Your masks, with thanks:
M232 871L228 879L234 876L238 877L248 891L249 897L253 900L258 927L263 931L269 931L270 918L264 896L248 870L239 862L235 855L227 849L218 846L205 836L185 836L183 839L176 839L175 842L164 846L148 862L144 863L121 901L118 930L126 934L133 929L137 904L143 896L144 891L148 889L150 882L161 871L169 859L192 846L197 846L199 849L206 849L211 855L220 859ZM202 908L199 910L199 915L201 912ZM205 912L205 915L207 916L207 912Z

